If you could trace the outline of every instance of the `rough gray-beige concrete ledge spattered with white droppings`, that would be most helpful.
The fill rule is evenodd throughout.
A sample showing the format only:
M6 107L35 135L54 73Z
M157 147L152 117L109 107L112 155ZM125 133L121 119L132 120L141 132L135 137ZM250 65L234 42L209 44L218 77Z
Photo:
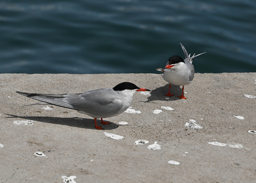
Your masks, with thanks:
M181 87L167 98L168 83L152 73L1 74L0 182L256 182L256 98L244 96L256 96L255 80L256 73L196 73L180 100ZM22 107L38 101L16 93L80 93L124 81L151 95L135 93L131 109L141 113L98 120L105 130L67 108ZM14 124L21 121L33 125ZM160 150L147 148L154 142Z

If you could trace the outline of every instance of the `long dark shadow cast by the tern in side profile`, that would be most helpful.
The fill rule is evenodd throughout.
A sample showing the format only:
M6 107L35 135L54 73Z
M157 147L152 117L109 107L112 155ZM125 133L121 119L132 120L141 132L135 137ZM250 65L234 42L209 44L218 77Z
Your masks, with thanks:
M6 115L8 115L8 117L6 118L22 118L25 120L33 120L33 121L40 121L45 123L57 124L57 125L67 125L67 126L73 126L78 128L87 128L87 129L97 130L95 128L94 119L89 119L89 118L82 118L82 120L76 120L74 118L67 118L67 117L17 116L17 115L9 115L9 114L6 114ZM106 121L106 122L110 122L110 125L103 125L100 122L101 120L97 120L97 125L104 128L104 130L114 130L115 128L118 128L120 126L110 121Z

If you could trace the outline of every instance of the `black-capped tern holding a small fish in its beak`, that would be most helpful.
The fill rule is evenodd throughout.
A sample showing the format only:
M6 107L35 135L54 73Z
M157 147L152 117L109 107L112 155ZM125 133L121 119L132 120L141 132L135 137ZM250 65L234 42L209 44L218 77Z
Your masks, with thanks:
M170 93L171 85L178 85L183 86L182 88L182 94L179 96L181 99L186 99L184 97L184 86L189 85L193 82L195 69L192 64L193 58L202 55L204 53L200 53L198 55L194 55L190 57L190 54L188 55L188 52L186 51L185 47L180 43L181 48L184 51L185 54L185 60L181 58L180 56L172 56L169 58L169 61L166 63L166 66L164 68L157 68L157 71L163 72L162 77L165 81L170 83L169 85L169 92L166 94L166 96L173 96Z

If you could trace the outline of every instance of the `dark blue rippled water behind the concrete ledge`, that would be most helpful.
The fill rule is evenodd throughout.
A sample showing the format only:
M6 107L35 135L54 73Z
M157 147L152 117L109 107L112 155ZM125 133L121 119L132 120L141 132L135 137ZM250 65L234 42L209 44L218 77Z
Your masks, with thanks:
M256 1L0 2L0 73L256 72Z

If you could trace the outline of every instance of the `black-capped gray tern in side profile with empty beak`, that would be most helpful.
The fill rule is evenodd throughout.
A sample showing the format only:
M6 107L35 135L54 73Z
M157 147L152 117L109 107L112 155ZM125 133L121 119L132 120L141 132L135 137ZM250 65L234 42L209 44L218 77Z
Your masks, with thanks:
M109 122L104 122L102 118L117 116L124 112L130 107L136 91L150 90L139 88L130 82L122 82L114 88L102 88L84 93L39 94L18 91L17 93L91 116L94 118L95 127L101 130L102 127L97 126L97 118L101 118L102 124L109 125Z

